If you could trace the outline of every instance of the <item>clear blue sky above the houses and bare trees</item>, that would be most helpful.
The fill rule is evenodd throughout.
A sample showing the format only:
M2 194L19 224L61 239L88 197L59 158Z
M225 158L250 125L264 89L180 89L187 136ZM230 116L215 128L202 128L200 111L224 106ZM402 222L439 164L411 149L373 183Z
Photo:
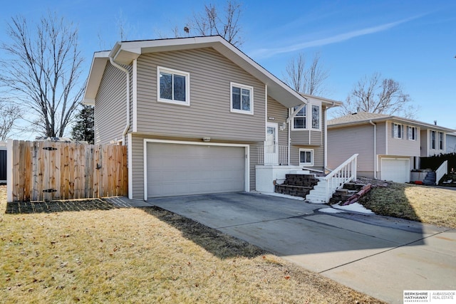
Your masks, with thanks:
M120 40L172 36L193 11L223 1L7 1L0 11L0 41L11 16L31 21L48 10L78 24L84 78L94 51ZM242 1L241 49L283 78L286 63L302 52L321 53L330 70L326 98L344 101L364 75L379 72L403 85L417 119L456 129L456 1Z

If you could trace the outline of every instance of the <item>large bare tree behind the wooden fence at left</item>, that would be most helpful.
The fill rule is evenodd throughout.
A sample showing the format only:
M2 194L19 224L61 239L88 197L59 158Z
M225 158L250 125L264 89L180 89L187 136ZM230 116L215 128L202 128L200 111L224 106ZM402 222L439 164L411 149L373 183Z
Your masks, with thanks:
M7 25L11 43L1 45L8 56L0 61L0 83L36 131L62 137L83 95L78 29L52 13L34 28L21 16Z

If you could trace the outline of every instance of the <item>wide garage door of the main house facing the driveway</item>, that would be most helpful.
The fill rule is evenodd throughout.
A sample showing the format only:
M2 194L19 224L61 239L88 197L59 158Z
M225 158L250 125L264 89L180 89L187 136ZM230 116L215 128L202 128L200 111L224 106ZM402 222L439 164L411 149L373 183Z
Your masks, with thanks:
M244 191L245 148L147 143L147 196Z

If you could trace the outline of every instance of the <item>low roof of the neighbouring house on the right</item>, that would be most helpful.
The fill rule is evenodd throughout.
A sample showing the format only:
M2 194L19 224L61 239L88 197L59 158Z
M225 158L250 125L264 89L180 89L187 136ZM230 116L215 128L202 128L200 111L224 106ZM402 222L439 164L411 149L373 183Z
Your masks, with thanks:
M412 125L415 127L420 127L423 130L433 129L433 130L442 130L445 132L455 132L455 130L440 127L438 125L432 125L427 122L420 122L418 120L410 120L408 118L399 117L395 115L388 114L379 114L379 113L369 113L369 112L358 112L353 114L348 114L342 117L337 117L332 120L328 120L328 129L333 129L336 127L348 127L351 125L361 125L369 122L383 122L386 120L391 120L393 122L398 122L400 124Z

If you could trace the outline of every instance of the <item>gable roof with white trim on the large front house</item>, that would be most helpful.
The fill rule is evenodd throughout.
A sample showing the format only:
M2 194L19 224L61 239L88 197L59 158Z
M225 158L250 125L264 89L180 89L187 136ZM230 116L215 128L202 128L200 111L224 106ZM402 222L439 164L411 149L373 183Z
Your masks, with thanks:
M253 75L262 83L266 84L268 86L268 95L284 105L286 108L293 108L298 105L302 105L303 103L307 103L307 98L305 96L297 93L221 36L123 41L115 43L115 46L111 51L94 53L83 103L90 105L95 103L95 97L98 93L98 88L100 87L101 78L103 78L103 71L106 63L109 61L109 58L113 58L115 63L129 65L134 59L138 58L143 53L179 51L208 47L214 48L230 61L246 70L247 73ZM321 100L325 102L326 99ZM334 101L334 103L338 102ZM333 105L335 105L334 103ZM340 105L340 103L336 105Z

